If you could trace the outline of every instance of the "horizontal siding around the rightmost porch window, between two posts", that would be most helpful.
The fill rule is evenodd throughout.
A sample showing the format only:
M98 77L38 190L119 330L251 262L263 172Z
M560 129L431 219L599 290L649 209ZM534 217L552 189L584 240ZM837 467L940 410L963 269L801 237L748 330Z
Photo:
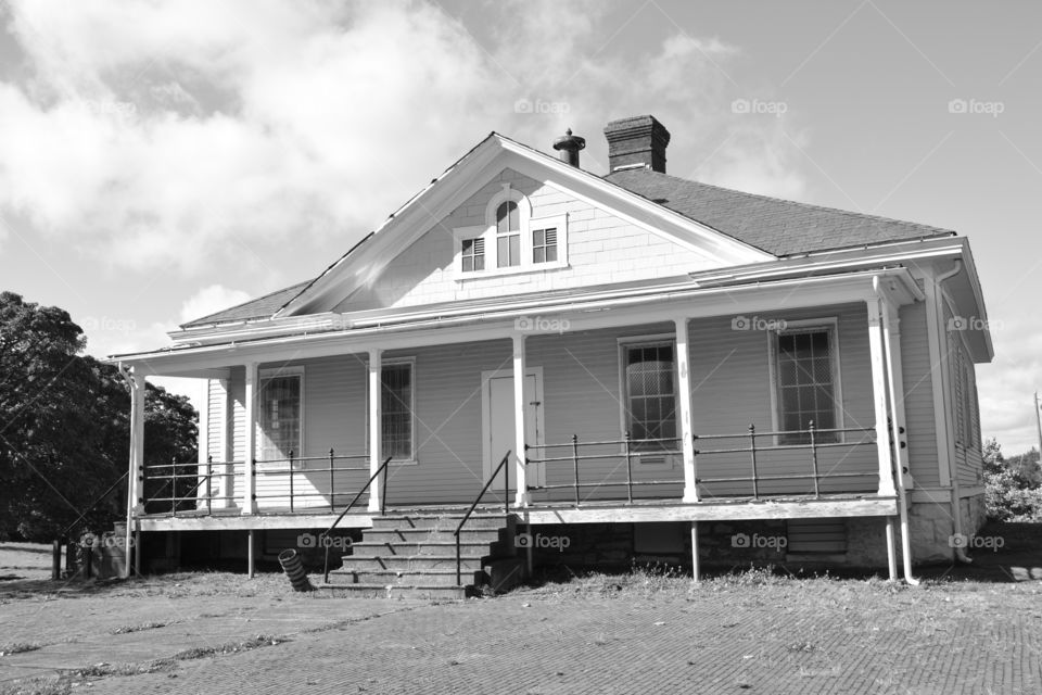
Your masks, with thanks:
M864 305L825 307L815 311L786 312L757 317L761 321L802 320L836 317L839 339L839 369L842 384L842 427L872 428L875 410L872 395L872 364L868 354L867 311ZM764 330L735 330L732 316L690 321L690 364L694 431L696 434L745 434L750 425L758 431L775 429L772 414L771 353ZM754 325L753 317L744 325ZM864 439L848 433L846 441ZM757 439L758 446L773 445L773 438ZM749 438L702 440L696 442L699 478L733 478L752 475L751 455L746 452L713 454L713 450L749 446ZM878 486L878 458L874 444L822 448L818 471L864 472L864 477L824 479L822 492L864 491ZM813 470L806 448L759 452L759 476L809 475ZM798 494L813 491L811 480L764 481L761 494ZM700 485L703 497L748 495L751 482L715 482Z

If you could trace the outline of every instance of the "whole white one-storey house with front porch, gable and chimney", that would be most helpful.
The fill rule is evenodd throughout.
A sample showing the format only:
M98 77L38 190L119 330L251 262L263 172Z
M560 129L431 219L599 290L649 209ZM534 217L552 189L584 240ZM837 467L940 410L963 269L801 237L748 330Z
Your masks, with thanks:
M652 116L605 135L600 175L571 131L493 132L318 277L112 357L127 533L251 567L353 544L366 586L962 556L992 358L967 239L671 176ZM198 462L142 465L160 375L207 383Z

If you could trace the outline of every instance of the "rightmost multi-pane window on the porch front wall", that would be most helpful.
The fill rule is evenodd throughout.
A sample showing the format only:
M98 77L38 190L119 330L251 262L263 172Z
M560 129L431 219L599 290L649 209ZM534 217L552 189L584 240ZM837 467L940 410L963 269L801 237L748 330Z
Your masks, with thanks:
M831 327L809 327L775 333L775 375L780 444L809 444L806 430L838 428L835 339ZM795 431L799 430L799 431ZM836 432L815 435L817 442L838 441Z

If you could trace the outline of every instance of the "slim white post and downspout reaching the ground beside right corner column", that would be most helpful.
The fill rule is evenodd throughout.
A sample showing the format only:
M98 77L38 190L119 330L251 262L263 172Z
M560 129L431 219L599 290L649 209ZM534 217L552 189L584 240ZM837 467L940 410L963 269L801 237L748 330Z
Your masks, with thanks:
M904 581L915 585L918 580L912 577L912 539L908 529L908 496L906 488L912 483L908 475L907 428L904 425L904 379L901 367L901 331L895 307L886 299L880 299L882 309L882 343L887 356L887 374L890 387L890 406L893 415L893 451L897 457L898 514L901 519L901 560Z

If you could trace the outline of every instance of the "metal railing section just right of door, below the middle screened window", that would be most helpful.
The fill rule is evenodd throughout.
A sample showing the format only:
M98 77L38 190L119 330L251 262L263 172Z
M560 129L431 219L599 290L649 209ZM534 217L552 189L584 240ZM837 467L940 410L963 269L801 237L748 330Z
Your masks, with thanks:
M582 490L585 488L621 488L626 489L626 501L633 502L633 489L640 485L675 485L684 484L684 480L634 480L633 463L641 458L661 458L663 456L681 455L678 448L681 440L678 438L661 439L639 439L635 440L626 432L620 440L603 440L593 442L580 442L577 434L572 434L570 442L566 444L525 444L525 451L542 451L542 458L525 457L525 464L571 464L572 482L556 483L547 485L529 485L533 490L561 490L572 489L574 492L575 506L582 504ZM621 447L621 451L609 451L602 453L582 453L583 447ZM552 450L568 450L563 455L558 455ZM548 456L547 453L555 455ZM583 482L580 476L580 464L592 460L620 460L625 464L625 480L607 480L602 478L599 481Z

